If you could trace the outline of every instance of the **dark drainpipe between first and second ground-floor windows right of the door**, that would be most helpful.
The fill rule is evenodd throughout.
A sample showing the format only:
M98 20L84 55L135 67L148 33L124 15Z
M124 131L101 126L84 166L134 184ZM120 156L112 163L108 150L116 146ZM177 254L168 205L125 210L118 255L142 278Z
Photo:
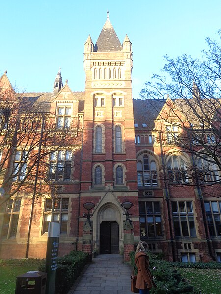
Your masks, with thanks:
M169 201L169 192L166 182L166 172L165 172L165 162L164 162L164 152L162 147L162 138L161 138L162 130L159 132L160 137L160 147L161 147L161 160L162 160L162 166L163 166L163 172L164 172L164 187L165 187L165 193L166 193L166 204L167 204L167 211L168 211L168 221L169 221L169 231L170 231L170 241L172 245L172 256L173 261L176 261L176 247L174 245L175 240L173 239L173 231L172 231L172 220L171 220L171 212L170 212L170 201Z

